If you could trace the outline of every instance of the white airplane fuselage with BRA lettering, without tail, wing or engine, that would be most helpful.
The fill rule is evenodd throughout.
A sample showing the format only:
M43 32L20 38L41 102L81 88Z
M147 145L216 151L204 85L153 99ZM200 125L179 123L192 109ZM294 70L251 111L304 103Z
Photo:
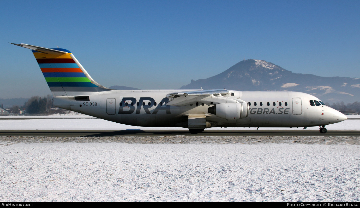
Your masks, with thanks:
M183 90L186 92L189 90ZM224 97L249 104L247 117L226 120L208 112L213 105L196 102L169 106L166 94L179 90L113 90L87 96L54 97L54 105L116 123L148 127L188 126L188 115L206 115L209 127L308 127L346 120L346 116L325 105L312 106L318 98L301 92L230 91Z

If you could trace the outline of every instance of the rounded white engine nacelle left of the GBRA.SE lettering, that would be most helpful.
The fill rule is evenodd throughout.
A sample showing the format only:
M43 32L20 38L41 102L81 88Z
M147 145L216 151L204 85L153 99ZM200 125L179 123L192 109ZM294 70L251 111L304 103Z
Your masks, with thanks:
M248 116L248 105L246 102L219 103L208 108L208 112L226 120L238 120Z

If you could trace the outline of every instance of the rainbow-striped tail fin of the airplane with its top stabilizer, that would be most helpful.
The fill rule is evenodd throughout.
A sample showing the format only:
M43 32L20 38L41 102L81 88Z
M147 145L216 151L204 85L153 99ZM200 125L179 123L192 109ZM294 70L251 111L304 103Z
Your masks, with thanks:
M44 48L12 43L32 50L53 96L74 96L111 90L86 72L75 56L63 48Z

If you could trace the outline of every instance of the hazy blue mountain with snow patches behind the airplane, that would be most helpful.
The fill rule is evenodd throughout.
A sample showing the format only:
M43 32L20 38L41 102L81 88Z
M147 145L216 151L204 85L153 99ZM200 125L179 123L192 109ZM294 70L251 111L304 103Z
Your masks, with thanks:
M243 60L207 79L191 80L180 89L233 89L239 91L298 91L323 102L360 101L360 78L297 74L263 60Z

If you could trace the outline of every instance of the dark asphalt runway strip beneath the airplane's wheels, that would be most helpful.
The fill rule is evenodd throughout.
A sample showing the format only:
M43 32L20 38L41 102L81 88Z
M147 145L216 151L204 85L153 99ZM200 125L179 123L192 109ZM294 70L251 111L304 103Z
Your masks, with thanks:
M190 134L188 130L5 130L0 131L0 137L24 136L24 137L158 137L167 135L186 136L274 136L274 137L359 137L360 131L336 131L328 130L321 134L316 130L205 130L198 134Z

